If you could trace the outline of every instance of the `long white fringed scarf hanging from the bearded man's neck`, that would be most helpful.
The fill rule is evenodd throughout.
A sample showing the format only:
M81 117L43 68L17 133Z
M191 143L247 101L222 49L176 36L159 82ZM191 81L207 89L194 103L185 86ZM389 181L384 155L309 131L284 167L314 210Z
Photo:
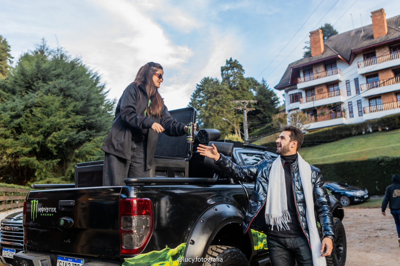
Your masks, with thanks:
M318 234L317 223L314 216L313 185L311 183L311 167L297 153L300 180L306 201L306 218L312 262L314 266L326 266L325 257L321 257L321 240ZM285 171L280 156L272 163L268 181L267 201L265 205L265 220L268 225L276 226L278 230L288 230L290 215L286 202Z

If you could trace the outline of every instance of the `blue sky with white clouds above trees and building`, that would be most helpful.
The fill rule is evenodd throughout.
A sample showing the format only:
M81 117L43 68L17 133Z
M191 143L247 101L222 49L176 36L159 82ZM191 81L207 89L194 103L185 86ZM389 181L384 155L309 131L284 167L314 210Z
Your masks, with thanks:
M346 32L353 29L352 18L359 28L371 24L370 12L380 8L386 18L397 16L400 1L3 0L0 35L16 59L43 37L50 48L58 40L98 71L109 98L119 99L140 66L160 63L160 93L172 110L188 104L203 77L220 79L230 57L246 77L274 87L287 65L302 57L310 31L330 23Z

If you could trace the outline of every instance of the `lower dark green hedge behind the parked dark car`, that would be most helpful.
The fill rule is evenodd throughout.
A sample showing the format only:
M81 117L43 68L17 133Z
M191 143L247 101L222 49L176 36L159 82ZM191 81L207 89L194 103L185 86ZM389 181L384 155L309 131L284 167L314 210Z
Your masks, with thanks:
M368 160L316 164L326 181L341 181L365 187L369 195L384 195L392 175L400 174L400 157L381 156Z

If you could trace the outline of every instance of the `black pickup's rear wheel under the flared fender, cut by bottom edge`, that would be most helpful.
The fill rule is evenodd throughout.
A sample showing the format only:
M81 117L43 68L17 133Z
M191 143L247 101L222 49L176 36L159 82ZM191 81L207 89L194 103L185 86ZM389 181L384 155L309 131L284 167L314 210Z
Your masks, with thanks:
M250 266L246 256L233 246L210 246L203 266Z

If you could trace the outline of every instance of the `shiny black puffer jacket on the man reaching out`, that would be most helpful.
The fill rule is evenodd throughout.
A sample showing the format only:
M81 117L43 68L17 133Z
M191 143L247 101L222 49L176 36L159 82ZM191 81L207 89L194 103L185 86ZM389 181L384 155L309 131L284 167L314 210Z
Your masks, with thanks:
M252 166L238 166L237 164L234 164L232 161L228 160L223 154L220 154L220 159L215 162L215 164L220 167L224 173L233 179L244 182L254 181L254 190L248 203L246 217L244 217L243 233L246 233L246 231L249 229L252 221L266 202L269 174L274 160L276 160L276 158L271 160L262 160ZM308 241L310 241L306 218L306 200L304 198L303 187L300 180L298 159L296 159L296 161L292 164L291 168L293 192L295 195L300 225ZM320 169L311 166L311 175L311 183L314 186L314 209L320 220L322 232L324 235L334 235L335 230L330 209L329 195L324 187L324 180L322 179Z

